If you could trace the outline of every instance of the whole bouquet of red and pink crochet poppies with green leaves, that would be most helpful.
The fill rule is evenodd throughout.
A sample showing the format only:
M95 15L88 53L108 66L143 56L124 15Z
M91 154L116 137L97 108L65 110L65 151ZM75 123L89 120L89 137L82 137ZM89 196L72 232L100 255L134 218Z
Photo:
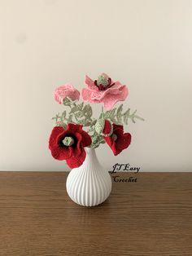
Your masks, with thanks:
M55 89L55 100L69 108L57 114L55 127L51 131L49 148L57 160L65 160L70 168L83 164L86 157L85 148L98 148L101 143L107 143L116 156L131 143L131 135L124 132L124 124L136 119L143 120L131 113L130 108L123 111L123 104L115 107L118 101L124 101L129 94L127 86L114 82L103 73L97 80L85 77L85 86L81 94L72 84L65 84ZM80 95L82 102L79 102ZM98 118L93 117L89 104L102 104Z

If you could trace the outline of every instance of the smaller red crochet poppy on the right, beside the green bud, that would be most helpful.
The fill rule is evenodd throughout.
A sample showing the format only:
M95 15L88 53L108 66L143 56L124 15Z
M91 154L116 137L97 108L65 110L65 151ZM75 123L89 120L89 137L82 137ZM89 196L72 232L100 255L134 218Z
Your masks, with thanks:
M124 133L124 126L118 126L113 124L113 132L111 136L104 137L105 141L112 149L114 155L118 155L125 148L128 148L131 143L131 135L129 133ZM103 129L103 134L105 131L108 132L109 124L108 121L105 121L105 127Z

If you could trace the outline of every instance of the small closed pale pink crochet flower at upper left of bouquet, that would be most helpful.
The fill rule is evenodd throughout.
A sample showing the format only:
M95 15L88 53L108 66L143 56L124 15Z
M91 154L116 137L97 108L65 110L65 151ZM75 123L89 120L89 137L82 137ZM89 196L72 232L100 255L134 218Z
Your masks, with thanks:
M58 102L59 104L63 104L63 99L65 97L69 97L72 100L80 99L80 92L79 90L76 90L76 88L74 88L72 84L67 83L55 89L54 97L56 102Z

